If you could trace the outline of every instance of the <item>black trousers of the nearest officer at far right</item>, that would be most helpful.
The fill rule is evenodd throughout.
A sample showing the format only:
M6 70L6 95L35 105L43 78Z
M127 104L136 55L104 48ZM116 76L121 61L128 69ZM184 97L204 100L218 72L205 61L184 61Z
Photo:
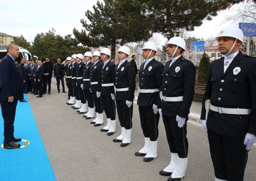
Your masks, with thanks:
M232 181L244 180L248 157L245 138L224 136L209 129L207 133L215 177Z

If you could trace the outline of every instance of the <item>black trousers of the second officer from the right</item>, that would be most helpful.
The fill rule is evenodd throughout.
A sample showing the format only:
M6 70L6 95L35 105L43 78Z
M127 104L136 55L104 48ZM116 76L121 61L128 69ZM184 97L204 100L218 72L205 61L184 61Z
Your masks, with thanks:
M187 119L182 128L178 127L176 116L164 116L163 123L170 151L177 153L180 158L187 158L188 140L187 140Z

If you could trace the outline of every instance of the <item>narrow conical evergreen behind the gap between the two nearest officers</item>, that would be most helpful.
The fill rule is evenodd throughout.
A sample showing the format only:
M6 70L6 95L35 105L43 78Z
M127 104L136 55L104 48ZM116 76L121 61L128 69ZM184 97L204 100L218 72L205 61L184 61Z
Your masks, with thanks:
M208 71L210 67L210 60L206 53L203 53L203 57L200 60L198 73L197 73L197 83L206 84Z

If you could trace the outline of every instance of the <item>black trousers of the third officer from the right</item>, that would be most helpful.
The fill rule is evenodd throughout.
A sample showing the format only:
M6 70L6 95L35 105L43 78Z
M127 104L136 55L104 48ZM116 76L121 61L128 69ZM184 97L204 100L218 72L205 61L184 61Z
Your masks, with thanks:
M144 137L150 141L157 141L159 113L154 114L152 106L139 106L140 126L142 126Z

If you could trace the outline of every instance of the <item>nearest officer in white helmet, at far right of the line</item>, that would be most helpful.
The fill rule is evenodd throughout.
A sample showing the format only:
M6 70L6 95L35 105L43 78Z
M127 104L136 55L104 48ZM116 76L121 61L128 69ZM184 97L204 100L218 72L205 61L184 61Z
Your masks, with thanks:
M239 51L244 35L238 27L224 27L215 39L224 58L210 65L201 120L215 180L241 181L256 140L256 59ZM208 117L206 100L210 100Z

